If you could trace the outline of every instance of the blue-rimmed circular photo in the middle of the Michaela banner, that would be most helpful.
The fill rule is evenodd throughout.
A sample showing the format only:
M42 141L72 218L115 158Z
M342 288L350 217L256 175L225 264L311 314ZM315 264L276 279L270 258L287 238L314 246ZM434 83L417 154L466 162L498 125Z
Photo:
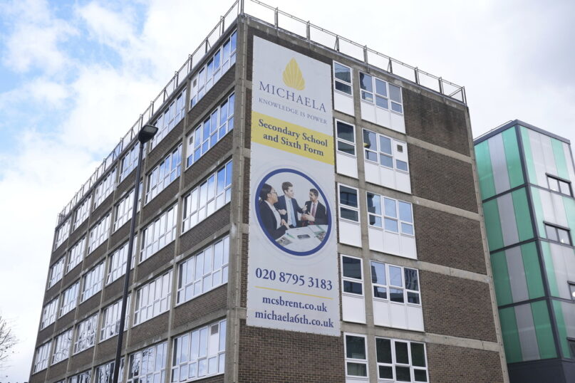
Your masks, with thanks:
M318 184L294 169L276 169L255 193L259 226L269 241L294 256L309 256L331 233L331 209Z

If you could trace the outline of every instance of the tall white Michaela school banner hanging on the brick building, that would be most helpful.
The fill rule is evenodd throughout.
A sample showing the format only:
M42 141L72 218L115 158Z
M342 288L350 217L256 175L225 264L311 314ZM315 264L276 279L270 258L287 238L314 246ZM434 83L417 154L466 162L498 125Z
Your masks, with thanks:
M340 335L331 67L254 37L247 324Z

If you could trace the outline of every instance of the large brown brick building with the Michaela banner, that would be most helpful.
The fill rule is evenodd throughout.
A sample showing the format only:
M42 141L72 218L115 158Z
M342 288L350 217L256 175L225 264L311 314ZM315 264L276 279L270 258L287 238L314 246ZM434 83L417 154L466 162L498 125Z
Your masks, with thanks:
M237 1L58 216L30 382L109 381L135 182L125 382L506 382L469 121Z

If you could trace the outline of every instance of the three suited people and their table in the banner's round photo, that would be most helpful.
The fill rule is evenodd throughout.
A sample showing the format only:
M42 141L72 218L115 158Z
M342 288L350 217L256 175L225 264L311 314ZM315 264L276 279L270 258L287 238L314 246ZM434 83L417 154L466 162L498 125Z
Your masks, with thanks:
M306 252L316 248L328 230L327 210L319 201L318 190L309 189L309 200L303 206L296 200L291 182L282 182L281 192L283 195L278 196L270 184L261 186L258 207L262 229L287 250Z

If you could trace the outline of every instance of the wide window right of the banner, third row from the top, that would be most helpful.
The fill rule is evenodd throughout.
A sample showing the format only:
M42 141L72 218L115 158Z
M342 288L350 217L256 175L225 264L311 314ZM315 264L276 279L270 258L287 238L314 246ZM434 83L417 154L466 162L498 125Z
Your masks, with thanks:
M412 206L408 202L380 196L379 194L367 193L368 216L371 226L413 236Z

